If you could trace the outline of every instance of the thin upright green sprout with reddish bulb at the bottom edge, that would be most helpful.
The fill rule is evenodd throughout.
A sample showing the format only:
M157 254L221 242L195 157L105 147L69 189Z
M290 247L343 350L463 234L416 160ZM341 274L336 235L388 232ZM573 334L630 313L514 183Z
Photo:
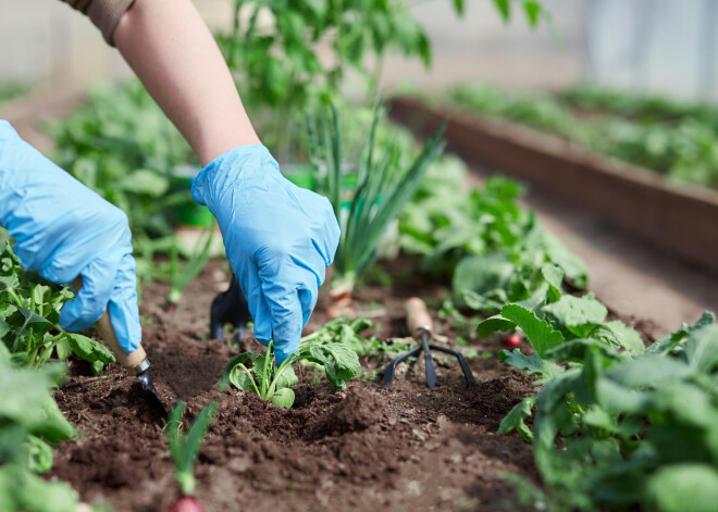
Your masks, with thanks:
M180 487L180 499L170 505L169 512L205 512L205 508L195 498L195 461L202 447L202 440L212 424L216 412L216 402L212 402L200 411L189 432L181 434L182 417L185 403L177 402L166 426L166 437L170 453L174 461L174 478Z

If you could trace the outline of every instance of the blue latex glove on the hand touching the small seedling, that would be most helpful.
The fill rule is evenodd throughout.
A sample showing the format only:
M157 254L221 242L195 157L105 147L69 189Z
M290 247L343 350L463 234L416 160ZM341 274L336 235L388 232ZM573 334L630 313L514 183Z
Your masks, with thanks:
M255 338L267 346L273 337L281 364L299 348L339 241L329 200L282 176L264 146L218 157L195 178L191 193L216 217Z

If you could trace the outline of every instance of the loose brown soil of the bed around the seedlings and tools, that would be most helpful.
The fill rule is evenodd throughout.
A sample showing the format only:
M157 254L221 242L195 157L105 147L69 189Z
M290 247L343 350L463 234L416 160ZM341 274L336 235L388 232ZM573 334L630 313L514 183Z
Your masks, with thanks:
M211 261L173 312L163 309L168 286L143 289L143 346L163 402L185 400L187 419L213 400L220 404L195 471L197 497L208 511L520 509L503 474L537 483L531 447L516 434L495 433L536 387L498 361L496 340L456 345L468 338L467 329L436 315L448 288L420 275L414 263L384 265L357 291L357 309L372 316L379 339L400 338L407 336L404 301L426 298L435 342L474 355L469 364L476 385L467 385L457 362L442 357L435 358L434 389L425 385L423 358L401 363L389 387L357 379L346 391L324 379L311 383L297 364L294 407L265 407L255 395L215 386L235 353L208 339L210 303L230 282L226 263ZM393 284L382 287L387 275ZM321 297L307 333L327 320L326 304ZM260 348L251 337L240 346ZM361 358L366 374L389 359ZM116 364L96 377L86 363L71 361L55 397L82 435L55 450L49 477L70 482L84 501L104 501L116 511L166 510L178 496L172 460L161 415L137 379Z

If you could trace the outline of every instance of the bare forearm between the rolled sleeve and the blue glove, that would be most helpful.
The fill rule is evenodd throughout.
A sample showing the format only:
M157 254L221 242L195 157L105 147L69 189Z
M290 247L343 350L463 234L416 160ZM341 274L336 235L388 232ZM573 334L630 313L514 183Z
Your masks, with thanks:
M212 35L189 0L136 0L113 40L202 165L261 143Z

